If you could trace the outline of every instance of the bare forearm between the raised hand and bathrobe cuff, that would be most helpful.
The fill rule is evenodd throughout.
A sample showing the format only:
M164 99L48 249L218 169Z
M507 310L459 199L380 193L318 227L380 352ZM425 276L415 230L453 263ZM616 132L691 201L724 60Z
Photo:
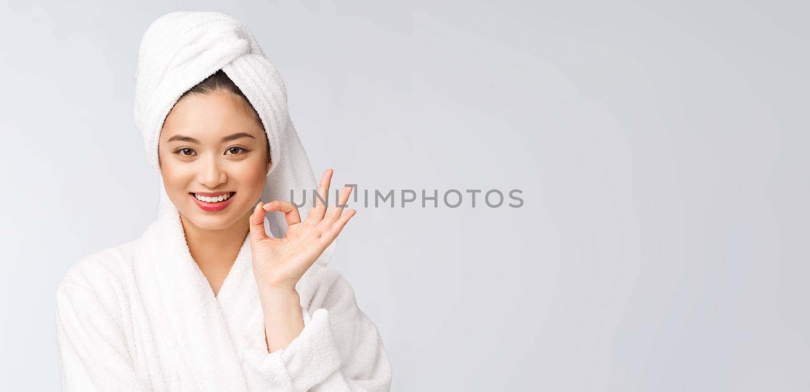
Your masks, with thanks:
M301 297L293 289L259 287L259 300L264 315L267 351L272 353L287 348L304 330Z

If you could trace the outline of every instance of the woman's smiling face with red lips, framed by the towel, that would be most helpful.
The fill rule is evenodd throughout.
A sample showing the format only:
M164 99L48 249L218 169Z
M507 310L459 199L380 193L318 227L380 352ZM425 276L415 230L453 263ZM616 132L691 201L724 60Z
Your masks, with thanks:
M194 226L228 228L253 211L270 170L267 139L249 104L232 92L190 94L164 121L158 144L168 198ZM198 194L226 194L222 202Z

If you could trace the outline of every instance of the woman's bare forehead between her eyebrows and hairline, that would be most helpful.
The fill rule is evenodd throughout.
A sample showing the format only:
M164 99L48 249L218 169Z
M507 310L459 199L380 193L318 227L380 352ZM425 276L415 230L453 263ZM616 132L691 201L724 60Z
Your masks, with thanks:
M178 100L166 116L160 141L182 134L203 143L219 142L222 136L237 131L257 138L264 133L241 96L231 92L191 94Z

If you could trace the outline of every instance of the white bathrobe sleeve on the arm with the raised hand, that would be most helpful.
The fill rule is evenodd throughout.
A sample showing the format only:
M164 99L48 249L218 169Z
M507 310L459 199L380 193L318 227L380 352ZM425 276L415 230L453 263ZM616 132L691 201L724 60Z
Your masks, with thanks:
M389 391L390 361L371 319L357 306L352 286L336 271L318 288L304 330L288 347L245 355L251 390ZM280 387L280 388L279 388Z

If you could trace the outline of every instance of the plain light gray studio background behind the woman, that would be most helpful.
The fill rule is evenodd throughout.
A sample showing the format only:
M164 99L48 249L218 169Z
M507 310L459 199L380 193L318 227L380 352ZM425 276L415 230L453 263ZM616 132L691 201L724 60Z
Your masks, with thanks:
M58 388L56 284L155 217L134 66L185 10L255 32L335 184L523 190L341 234L394 390L810 390L808 7L667 3L6 3L2 389Z

